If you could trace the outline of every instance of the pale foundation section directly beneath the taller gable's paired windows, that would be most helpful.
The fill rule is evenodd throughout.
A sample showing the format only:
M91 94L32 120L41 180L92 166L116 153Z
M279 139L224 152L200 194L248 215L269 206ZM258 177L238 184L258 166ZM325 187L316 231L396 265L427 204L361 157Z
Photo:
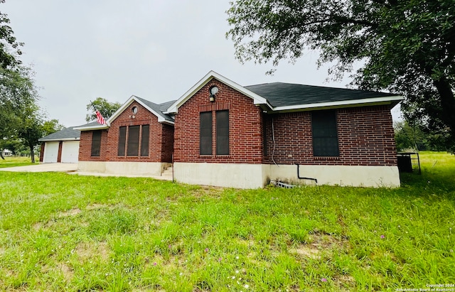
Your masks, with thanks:
M227 188L262 188L267 180L262 164L183 163L173 164L174 179L193 185L215 185Z

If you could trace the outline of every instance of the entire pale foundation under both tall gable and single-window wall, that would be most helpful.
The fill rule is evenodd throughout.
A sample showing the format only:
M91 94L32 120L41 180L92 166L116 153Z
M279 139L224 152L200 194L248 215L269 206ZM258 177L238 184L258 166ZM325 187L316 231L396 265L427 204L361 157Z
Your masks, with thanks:
M315 185L299 179L296 165L246 163L174 163L174 179L181 183L229 188L262 188L270 180L295 185ZM318 185L355 187L400 186L397 166L299 166L300 176L316 178Z

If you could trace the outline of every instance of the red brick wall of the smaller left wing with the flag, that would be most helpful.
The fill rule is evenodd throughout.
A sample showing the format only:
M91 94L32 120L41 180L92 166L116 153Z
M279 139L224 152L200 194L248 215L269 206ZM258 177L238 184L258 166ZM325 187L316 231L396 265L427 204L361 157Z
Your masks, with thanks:
M134 118L132 107L136 106L138 112ZM149 124L149 156L118 156L119 145L119 127L120 126L137 126ZM79 161L141 161L141 162L171 162L173 133L169 128L173 126L161 124L158 122L158 117L149 112L137 102L127 107L127 109L119 114L117 119L112 121L111 126L107 131L103 131L101 140L101 155L99 158L90 157L92 147L92 131L81 131ZM140 132L141 134L141 132ZM127 138L128 139L128 138ZM141 141L141 136L139 136ZM163 144L166 141L166 144ZM141 153L141 145L139 143L139 154Z

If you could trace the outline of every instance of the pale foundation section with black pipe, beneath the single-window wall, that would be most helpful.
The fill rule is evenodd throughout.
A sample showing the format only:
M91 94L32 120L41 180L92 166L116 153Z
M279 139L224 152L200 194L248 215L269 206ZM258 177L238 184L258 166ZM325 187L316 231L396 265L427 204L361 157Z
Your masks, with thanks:
M297 178L296 165L270 165L269 178L292 184L311 184L314 180ZM316 178L318 185L354 187L400 187L397 166L299 166L300 177Z

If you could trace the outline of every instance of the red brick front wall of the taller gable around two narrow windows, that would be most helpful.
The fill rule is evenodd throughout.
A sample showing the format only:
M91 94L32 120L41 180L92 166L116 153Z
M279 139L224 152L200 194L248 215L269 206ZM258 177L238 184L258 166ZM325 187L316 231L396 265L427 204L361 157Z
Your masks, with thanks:
M208 89L218 86L215 102L209 101ZM216 110L229 110L230 148L228 156L216 155ZM213 112L213 145L211 156L200 156L200 112ZM174 161L212 163L262 163L261 110L247 97L231 87L210 80L178 108L174 127Z

